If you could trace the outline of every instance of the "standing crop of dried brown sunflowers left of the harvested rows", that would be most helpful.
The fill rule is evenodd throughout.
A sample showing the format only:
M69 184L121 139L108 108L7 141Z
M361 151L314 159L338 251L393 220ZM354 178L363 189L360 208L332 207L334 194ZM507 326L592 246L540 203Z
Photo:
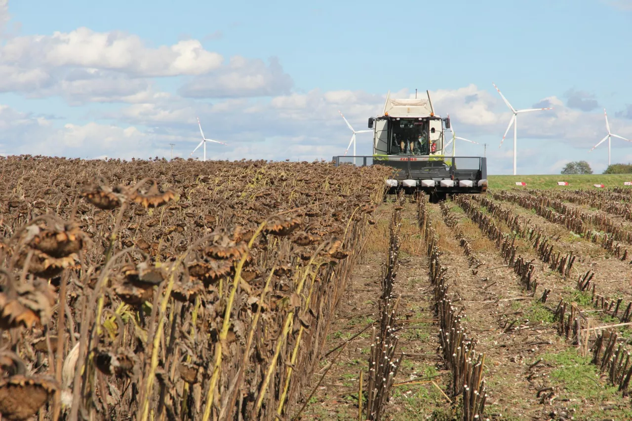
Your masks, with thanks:
M70 421L293 415L391 171L0 165L0 413Z

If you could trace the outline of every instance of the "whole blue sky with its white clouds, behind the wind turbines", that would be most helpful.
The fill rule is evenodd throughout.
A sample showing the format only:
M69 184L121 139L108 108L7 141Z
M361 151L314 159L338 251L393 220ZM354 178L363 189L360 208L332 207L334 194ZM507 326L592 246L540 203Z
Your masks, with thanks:
M511 114L492 82L517 109L555 107L520 116L519 173L576 159L604 169L605 143L588 154L606 134L603 107L632 138L632 0L10 0L8 15L4 154L168 157L176 143L188 157L198 114L230 143L209 157L331 159L351 135L337 109L361 130L387 90L419 88L459 136L489 143L490 173L511 173L513 139L498 148ZM358 154L369 139L358 135ZM613 140L612 156L632 161L632 143Z

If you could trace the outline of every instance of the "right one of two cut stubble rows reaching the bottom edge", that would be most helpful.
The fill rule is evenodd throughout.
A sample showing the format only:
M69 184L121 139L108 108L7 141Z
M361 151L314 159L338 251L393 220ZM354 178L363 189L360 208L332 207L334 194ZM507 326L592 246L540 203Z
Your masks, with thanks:
M483 366L485 354L477 353L476 340L468 336L461 325L463 316L453 306L446 284L446 271L439 259L438 238L425 206L425 196L417 199L418 220L430 259L430 283L434 287L435 317L439 317L439 341L447 369L452 371L452 396L461 395L463 420L481 419L485 410L485 380Z

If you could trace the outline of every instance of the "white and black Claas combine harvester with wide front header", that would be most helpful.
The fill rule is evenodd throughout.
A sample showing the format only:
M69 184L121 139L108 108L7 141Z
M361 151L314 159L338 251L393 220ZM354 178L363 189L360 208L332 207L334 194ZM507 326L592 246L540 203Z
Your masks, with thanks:
M389 92L382 115L368 119L374 133L373 155L334 156L334 164L391 166L394 171L386 180L387 193L424 192L433 203L448 194L486 192L487 159L445 156L450 118L434 113L426 93L427 99L392 99Z

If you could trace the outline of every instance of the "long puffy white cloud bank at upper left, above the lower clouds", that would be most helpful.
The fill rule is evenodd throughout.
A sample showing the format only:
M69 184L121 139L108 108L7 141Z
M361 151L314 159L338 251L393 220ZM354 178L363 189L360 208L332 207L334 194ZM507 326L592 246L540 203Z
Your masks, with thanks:
M0 92L61 95L71 104L142 102L154 94L152 78L166 76L188 76L179 93L191 98L274 96L293 87L276 58L222 64L195 39L154 48L137 35L88 28L10 37L0 44L0 63Z

